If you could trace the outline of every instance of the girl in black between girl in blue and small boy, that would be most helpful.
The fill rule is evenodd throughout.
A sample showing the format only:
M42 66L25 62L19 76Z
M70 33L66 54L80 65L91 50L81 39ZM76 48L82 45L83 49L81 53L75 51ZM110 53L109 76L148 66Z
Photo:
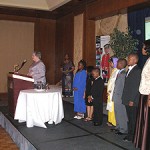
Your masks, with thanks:
M93 118L93 102L88 102L88 97L91 95L91 87L93 84L92 70L93 66L87 67L87 81L86 81L86 92L85 92L85 102L87 108L87 117L84 121L91 121Z

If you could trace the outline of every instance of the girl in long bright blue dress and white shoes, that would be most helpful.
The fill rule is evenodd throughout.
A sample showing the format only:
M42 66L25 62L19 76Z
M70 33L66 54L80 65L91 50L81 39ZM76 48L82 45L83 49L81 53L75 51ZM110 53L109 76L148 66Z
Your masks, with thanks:
M76 119L84 118L86 112L84 92L86 87L86 62L80 60L78 63L78 70L74 77L73 90L74 90L74 112Z

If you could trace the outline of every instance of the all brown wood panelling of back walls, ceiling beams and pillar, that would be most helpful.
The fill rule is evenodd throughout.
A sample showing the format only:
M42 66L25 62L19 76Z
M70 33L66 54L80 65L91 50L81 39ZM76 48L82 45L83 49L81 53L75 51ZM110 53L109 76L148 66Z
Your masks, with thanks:
M83 31L83 58L88 65L95 65L95 21L104 16L111 16L114 12L119 12L131 6L146 4L149 0L96 0L84 5L84 31ZM69 7L70 8L70 7ZM66 6L65 9L68 9ZM64 12L66 11L65 9ZM68 9L69 10L69 9ZM63 62L65 53L73 58L74 54L74 15L79 13L79 7L74 6L66 13L56 11L52 17L49 12L21 11L8 9L0 10L0 19L14 20L35 23L34 47L35 50L42 51L42 59L47 68L47 80L50 84L56 83L61 79L60 66ZM59 13L59 15L58 15ZM46 17L47 16L47 17ZM52 18L61 17L57 20ZM50 19L50 18L51 19ZM42 19L43 18L43 19ZM49 18L49 19L44 19ZM93 20L90 20L93 19Z

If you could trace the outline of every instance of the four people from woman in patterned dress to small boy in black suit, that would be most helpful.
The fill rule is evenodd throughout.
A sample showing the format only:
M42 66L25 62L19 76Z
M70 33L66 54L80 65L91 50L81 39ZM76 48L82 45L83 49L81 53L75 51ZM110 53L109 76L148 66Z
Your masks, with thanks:
M61 68L63 73L62 90L64 96L72 96L74 91L74 112L76 113L74 118L85 118L87 108L85 121L93 120L95 126L101 125L103 119L102 95L104 82L100 77L100 70L92 66L86 67L86 62L80 60L73 79L74 69L74 64L66 54Z

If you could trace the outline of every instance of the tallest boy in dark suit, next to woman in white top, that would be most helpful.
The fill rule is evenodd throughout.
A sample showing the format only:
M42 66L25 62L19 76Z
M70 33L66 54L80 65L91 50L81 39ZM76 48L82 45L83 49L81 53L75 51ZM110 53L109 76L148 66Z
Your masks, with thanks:
M137 106L140 96L139 85L141 80L141 69L137 66L138 59L138 55L134 53L128 56L129 69L126 74L122 94L122 102L126 107L128 116L128 134L124 138L124 141L132 141L135 130Z

